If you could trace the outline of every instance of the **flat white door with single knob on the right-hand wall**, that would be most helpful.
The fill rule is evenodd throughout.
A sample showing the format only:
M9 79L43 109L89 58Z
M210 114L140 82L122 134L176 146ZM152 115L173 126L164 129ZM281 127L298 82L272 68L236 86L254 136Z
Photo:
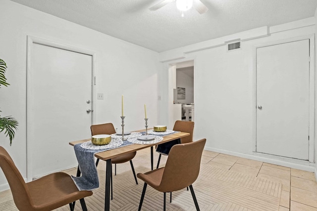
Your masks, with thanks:
M257 152L309 160L309 47L257 48Z

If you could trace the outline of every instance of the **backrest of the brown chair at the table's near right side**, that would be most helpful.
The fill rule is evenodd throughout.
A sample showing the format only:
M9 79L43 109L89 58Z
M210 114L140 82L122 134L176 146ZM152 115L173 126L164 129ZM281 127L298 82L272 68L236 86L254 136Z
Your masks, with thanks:
M174 145L166 161L160 183L161 192L172 192L193 184L198 177L206 138Z

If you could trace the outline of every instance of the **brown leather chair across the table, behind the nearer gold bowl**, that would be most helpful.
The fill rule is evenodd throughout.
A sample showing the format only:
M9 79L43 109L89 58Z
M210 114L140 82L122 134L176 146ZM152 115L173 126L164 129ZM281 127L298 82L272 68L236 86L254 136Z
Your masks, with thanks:
M91 134L92 135L99 135L99 134L113 134L115 133L115 129L112 125L112 123L106 123L106 124L101 124L101 125L92 125L90 127L91 129ZM130 161L131 169L134 175L134 179L136 184L138 184L138 180L135 174L135 170L133 167L132 159L135 157L137 152L131 152L128 154L120 155L118 157L112 158L111 163L114 164L114 175L116 175L116 164L122 164L125 162ZM96 166L98 165L99 158L97 159ZM111 174L111 199L112 199L112 174Z

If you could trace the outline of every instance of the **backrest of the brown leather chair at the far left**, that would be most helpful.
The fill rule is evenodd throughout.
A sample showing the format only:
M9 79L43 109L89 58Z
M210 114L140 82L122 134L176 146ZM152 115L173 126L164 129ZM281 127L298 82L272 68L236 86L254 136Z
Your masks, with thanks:
M7 151L0 146L0 167L9 183L15 206L19 210L32 210L29 189Z

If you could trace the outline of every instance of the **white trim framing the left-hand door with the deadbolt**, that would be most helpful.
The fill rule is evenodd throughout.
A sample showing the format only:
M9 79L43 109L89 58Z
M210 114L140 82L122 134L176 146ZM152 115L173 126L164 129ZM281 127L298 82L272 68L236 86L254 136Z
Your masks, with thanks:
M87 49L82 49L66 44L61 44L58 42L52 42L48 40L44 40L41 38L33 37L33 36L27 36L27 65L26 65L26 176L27 176L27 182L32 181L33 179L33 172L32 172L32 148L33 148L33 134L32 134L32 115L31 115L31 108L32 108L32 99L33 93L32 89L29 88L33 84L32 81L32 66L31 66L31 56L33 51L33 43L36 44L42 44L50 47L55 47L63 50L69 50L76 53L82 53L86 55L92 56L92 108L94 111L96 111L96 100L97 100L97 94L96 94L96 88L95 88L95 76L96 76L96 53ZM92 123L94 120L94 113L92 113Z

